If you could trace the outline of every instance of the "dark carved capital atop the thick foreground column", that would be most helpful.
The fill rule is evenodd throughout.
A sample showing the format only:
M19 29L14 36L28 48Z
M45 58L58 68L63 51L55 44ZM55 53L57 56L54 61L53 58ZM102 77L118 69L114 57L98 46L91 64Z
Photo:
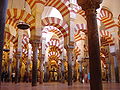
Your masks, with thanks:
M82 9L86 11L88 9L99 8L103 0L77 0L77 1L78 5L80 5Z

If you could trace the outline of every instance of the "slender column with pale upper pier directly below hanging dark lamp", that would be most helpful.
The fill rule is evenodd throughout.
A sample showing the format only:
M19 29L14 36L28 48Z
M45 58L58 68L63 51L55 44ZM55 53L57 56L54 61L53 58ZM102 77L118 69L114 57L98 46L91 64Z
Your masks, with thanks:
M18 83L19 76L20 76L20 59L22 56L22 38L23 38L23 31L18 29L18 47L16 53L16 74L15 74L15 83Z

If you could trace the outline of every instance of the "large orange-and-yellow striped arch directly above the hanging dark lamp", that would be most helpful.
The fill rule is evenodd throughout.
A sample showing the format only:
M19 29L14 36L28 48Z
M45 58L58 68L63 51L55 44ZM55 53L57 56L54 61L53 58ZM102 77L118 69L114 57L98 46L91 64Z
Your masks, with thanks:
M22 20L30 25L31 30L35 29L35 18L31 14L25 12L25 10L20 10L17 8L8 9L7 19L10 18L15 18L16 20Z

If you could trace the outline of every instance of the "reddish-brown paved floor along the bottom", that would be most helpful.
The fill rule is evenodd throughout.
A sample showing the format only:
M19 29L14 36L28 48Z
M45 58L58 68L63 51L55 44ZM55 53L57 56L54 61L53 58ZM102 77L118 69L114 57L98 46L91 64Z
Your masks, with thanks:
M120 90L120 83L103 83L103 90ZM32 87L31 83L2 83L0 90L90 90L89 84L74 83L68 86L67 83L43 83Z

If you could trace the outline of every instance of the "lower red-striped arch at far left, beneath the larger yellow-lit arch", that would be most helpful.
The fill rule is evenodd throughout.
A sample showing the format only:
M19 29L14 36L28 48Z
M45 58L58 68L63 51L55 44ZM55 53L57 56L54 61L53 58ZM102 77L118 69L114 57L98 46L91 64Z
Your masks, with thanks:
M14 47L17 46L18 43L18 36L13 36L9 32L5 32L5 44L12 42L14 44Z

